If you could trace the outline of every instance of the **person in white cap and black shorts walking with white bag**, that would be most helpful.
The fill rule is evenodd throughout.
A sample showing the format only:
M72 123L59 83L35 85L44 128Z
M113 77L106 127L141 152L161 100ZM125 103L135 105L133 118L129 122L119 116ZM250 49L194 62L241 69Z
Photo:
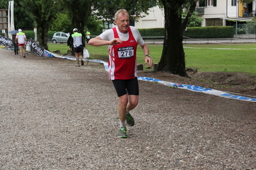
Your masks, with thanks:
M81 52L83 51L83 49L85 48L85 43L83 42L83 38L81 33L78 33L78 29L74 28L73 29L73 35L71 35L71 43L69 45L69 49L71 50L72 45L74 48L74 54L76 56L76 66L80 66L79 65L79 59L81 59L81 65L83 66L83 58L81 56Z

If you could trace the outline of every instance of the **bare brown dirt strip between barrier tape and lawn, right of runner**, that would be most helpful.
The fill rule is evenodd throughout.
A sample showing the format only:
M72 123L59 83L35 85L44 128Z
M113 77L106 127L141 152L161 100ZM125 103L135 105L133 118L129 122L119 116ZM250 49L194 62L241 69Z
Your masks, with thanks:
M256 76L239 72L194 72L187 69L189 77L181 77L164 72L140 72L139 76L151 77L162 81L179 84L201 86L203 88L218 89L228 93L239 93L244 96L256 97ZM194 69L196 70L196 69Z

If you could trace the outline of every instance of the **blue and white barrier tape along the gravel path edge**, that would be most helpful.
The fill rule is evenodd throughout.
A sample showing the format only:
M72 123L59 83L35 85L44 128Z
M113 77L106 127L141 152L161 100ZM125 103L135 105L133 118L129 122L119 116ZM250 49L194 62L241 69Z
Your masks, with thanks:
M55 57L55 58L63 58L63 59L72 59L76 60L72 56L58 56L52 52L49 52L47 50L44 50L44 56L46 57ZM94 62L94 63L102 63L105 67L105 70L108 71L108 63L105 61L101 61L99 59L89 59L89 62ZM239 95L232 95L230 93L226 93L225 91L219 91L216 89L209 89L209 88L202 88L200 86L194 86L194 85L187 85L187 84L177 84L173 82L166 82L166 81L161 81L158 79L153 79L149 77L138 77L138 80L140 81L149 81L149 82L158 82L160 84L164 84L166 86L173 86L176 88L181 88L181 89L188 89L190 91L195 91L195 92L201 92L209 95L216 95L218 97L224 97L224 98L230 98L230 99L235 99L235 100L243 100L246 102L256 102L256 98L250 98L250 97L242 97Z

